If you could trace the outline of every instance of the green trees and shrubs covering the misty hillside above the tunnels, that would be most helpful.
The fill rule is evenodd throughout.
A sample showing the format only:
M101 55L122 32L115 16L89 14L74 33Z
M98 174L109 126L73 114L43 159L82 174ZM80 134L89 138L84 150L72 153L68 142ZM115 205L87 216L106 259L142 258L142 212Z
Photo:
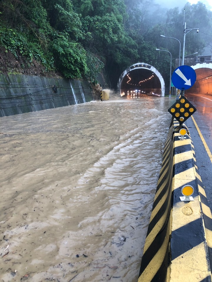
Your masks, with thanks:
M187 3L185 11L187 27L200 28L187 36L186 54L201 54L212 41L212 12L201 2ZM182 41L183 17L150 0L1 0L0 59L10 53L23 68L39 63L46 72L90 82L105 68L113 87L125 68L145 62L168 80L170 57L155 48L178 58L176 42L160 34ZM11 71L1 63L4 70Z

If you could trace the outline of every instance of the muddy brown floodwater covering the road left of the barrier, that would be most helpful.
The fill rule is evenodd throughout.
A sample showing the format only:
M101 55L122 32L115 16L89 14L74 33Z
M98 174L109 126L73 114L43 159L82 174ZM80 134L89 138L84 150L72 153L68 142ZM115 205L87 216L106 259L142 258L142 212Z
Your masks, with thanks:
M173 103L0 118L1 281L137 281Z

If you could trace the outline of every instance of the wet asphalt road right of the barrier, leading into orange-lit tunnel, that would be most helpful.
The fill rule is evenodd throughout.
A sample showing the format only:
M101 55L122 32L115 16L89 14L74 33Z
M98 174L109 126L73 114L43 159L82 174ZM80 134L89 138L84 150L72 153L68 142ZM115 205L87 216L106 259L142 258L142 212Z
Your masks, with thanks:
M212 152L212 95L186 93L185 97L196 107L193 118L205 142ZM185 122L188 127L196 155L198 170L205 187L206 196L212 211L212 158L209 157L192 117Z

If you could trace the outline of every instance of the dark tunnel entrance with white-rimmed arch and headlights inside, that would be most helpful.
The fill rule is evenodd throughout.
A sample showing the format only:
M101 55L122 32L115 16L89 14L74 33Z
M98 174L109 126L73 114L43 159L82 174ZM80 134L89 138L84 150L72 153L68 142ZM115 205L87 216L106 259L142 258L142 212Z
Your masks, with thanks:
M117 91L121 96L164 96L165 83L156 68L146 63L136 63L121 74Z

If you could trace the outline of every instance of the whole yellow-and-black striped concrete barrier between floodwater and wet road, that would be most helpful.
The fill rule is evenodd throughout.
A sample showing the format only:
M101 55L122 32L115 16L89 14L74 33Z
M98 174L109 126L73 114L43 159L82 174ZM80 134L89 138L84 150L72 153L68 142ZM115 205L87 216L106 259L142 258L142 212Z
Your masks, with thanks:
M192 140L178 126L165 142L138 282L211 282L212 216ZM183 187L193 187L193 200L182 201Z

